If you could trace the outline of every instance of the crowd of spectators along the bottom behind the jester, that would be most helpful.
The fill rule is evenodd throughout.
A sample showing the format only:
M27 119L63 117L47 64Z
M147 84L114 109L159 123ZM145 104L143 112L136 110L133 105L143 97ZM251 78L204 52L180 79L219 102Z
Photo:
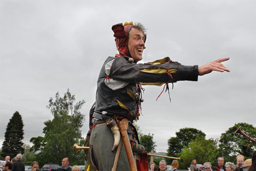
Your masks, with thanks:
M0 160L3 167L2 171L25 171L25 166L21 162L22 155L17 154L16 159L10 161L10 156L6 156L5 160ZM218 157L216 166L212 167L210 162L204 162L203 165L196 167L196 160L192 160L189 170L190 171L256 171L256 151L252 153L252 159L244 160L243 155L236 156L236 164L232 162L226 162L224 165L224 158ZM39 171L39 164L37 161L31 164L32 171ZM178 171L179 162L177 160L172 161L171 167L167 170L165 160L159 162L159 168L155 163L150 163L148 171ZM61 163L61 167L57 171L80 171L78 166L69 166L69 158L64 158Z

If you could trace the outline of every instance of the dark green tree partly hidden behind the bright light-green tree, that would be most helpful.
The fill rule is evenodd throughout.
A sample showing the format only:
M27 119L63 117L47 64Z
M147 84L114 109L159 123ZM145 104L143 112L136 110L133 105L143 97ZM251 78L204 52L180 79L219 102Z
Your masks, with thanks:
M183 151L184 147L196 139L196 136L205 137L204 132L197 130L196 128L181 128L179 132L176 132L176 137L171 137L168 140L167 156L178 157L178 153ZM168 165L171 165L172 159L165 159Z

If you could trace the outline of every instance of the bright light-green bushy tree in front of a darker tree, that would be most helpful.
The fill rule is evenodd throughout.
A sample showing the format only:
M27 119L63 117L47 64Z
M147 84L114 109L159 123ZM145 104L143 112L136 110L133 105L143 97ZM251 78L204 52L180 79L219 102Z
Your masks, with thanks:
M218 156L217 140L208 139L204 137L196 136L196 139L191 141L187 147L180 152L180 158L183 160L180 162L180 169L187 169L191 161L196 159L198 164L204 162L216 163Z

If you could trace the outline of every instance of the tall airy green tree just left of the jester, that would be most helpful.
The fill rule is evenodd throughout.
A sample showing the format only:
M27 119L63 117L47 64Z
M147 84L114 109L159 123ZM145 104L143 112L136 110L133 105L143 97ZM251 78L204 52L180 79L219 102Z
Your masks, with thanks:
M39 164L56 163L60 164L62 159L68 157L70 165L83 165L84 152L73 152L73 145L78 143L83 146L84 138L81 138L81 127L84 122L84 115L79 111L84 100L75 103L75 95L71 95L69 89L60 97L59 92L55 100L50 98L47 108L54 118L44 122L44 137L33 137L33 150L41 150L36 158Z

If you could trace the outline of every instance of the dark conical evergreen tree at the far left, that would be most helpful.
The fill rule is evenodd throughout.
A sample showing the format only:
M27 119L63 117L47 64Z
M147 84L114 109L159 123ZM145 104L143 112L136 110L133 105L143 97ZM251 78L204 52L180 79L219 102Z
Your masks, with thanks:
M10 156L13 158L18 153L22 154L24 152L24 148L22 147L24 143L21 141L24 138L23 126L22 117L19 112L16 111L6 127L4 134L5 139L2 145L2 157Z

